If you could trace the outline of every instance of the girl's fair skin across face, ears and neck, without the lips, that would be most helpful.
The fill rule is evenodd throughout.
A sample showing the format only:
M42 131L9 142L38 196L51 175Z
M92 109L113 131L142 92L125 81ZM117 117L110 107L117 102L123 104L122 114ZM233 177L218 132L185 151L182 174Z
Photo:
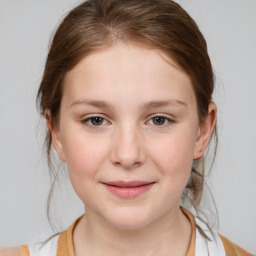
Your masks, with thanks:
M189 76L163 53L121 42L82 59L63 86L58 126L45 115L85 205L74 230L76 256L186 255L191 225L180 197L210 139L215 104L199 124ZM162 103L146 107L152 101ZM95 116L100 125L89 119ZM154 184L124 199L102 184L116 180Z

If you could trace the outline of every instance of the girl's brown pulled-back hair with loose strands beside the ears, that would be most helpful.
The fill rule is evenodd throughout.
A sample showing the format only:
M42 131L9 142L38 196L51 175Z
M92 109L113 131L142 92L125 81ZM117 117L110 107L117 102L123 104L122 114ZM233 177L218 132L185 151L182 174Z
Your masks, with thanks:
M51 113L53 126L58 125L63 81L68 71L93 51L122 41L160 50L175 61L191 79L199 122L208 114L214 90L214 73L206 41L195 21L171 0L89 0L63 19L52 38L43 78L37 95L42 115ZM216 126L212 138L217 148ZM211 138L211 139L212 139ZM52 137L45 138L50 173L54 178L48 196L47 213L57 179L52 162ZM196 160L183 192L182 200L199 212L205 185L204 156Z

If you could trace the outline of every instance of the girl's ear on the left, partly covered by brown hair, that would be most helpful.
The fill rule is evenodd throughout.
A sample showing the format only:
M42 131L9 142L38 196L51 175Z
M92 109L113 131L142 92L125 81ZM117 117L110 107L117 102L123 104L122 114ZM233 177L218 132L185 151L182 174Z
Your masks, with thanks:
M60 161L62 162L66 162L66 157L65 157L65 153L64 153L64 149L63 149L63 143L61 140L61 136L60 136L60 131L57 127L54 126L53 124L53 120L52 120L52 116L51 116L51 111L49 109L46 109L44 111L44 116L46 119L46 125L51 133L52 136L52 144L53 147L55 148Z

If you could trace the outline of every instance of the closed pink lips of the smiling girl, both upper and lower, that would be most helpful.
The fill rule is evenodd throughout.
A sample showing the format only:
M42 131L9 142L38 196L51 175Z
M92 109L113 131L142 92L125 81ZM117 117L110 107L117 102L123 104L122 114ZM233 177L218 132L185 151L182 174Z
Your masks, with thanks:
M103 183L113 194L122 198L133 198L148 191L155 182L111 181Z

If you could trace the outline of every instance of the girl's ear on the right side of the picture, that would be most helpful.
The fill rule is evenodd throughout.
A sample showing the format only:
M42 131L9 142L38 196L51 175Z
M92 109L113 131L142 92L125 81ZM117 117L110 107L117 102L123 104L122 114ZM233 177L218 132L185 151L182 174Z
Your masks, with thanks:
M210 103L208 107L208 115L204 118L198 129L194 147L194 159L198 159L203 155L215 127L216 116L217 106L214 103Z

